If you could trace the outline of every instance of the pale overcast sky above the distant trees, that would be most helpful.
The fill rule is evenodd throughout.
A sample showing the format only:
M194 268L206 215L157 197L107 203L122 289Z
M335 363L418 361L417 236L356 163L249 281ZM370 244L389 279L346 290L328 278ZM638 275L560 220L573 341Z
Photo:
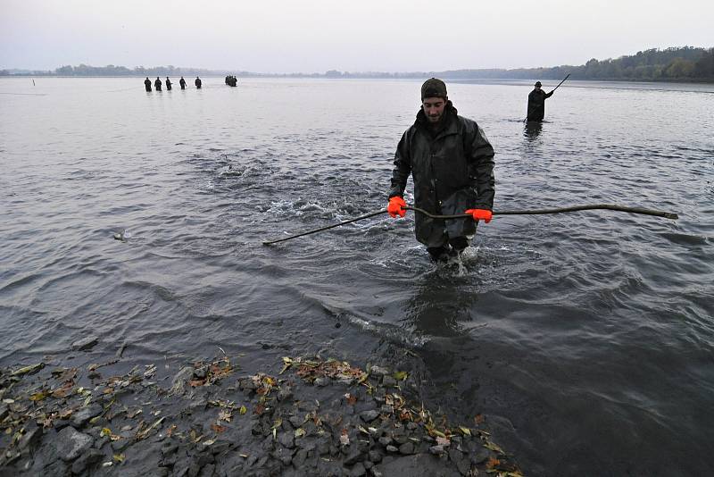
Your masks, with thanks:
M255 72L583 64L714 46L714 0L0 0L0 69Z

